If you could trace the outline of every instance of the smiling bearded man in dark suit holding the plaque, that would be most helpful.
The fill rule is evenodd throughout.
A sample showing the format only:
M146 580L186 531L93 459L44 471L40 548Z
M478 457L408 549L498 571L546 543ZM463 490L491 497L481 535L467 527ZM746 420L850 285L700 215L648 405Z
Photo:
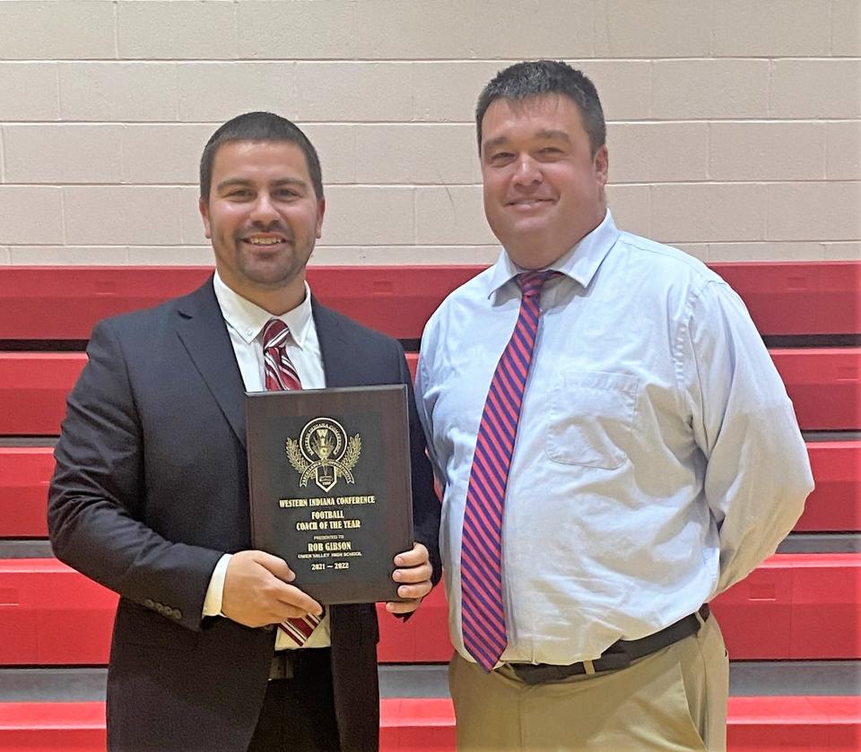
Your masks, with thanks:
M324 210L317 153L299 128L269 113L230 120L201 160L213 278L93 330L48 524L57 558L121 596L111 750L378 747L373 604L324 616L283 559L250 550L242 402L271 376L270 324L286 325L285 364L304 388L410 384L396 341L310 295ZM395 614L439 579L439 503L412 395L409 405L416 543L395 560ZM296 618L313 628L301 646L274 627Z

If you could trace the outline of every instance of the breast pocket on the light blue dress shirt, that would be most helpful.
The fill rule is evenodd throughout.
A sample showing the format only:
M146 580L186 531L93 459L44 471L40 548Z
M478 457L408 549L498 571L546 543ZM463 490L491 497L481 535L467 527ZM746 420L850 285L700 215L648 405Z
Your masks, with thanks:
M628 458L639 379L566 371L550 397L545 452L553 462L614 470Z

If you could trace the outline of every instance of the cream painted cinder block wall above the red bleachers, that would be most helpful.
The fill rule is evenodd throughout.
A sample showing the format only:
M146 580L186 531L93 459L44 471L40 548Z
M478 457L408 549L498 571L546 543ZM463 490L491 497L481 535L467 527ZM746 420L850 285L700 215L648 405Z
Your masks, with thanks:
M315 263L491 261L474 102L535 57L595 80L622 227L861 257L861 0L0 0L0 264L209 263L197 160L248 109L317 144Z

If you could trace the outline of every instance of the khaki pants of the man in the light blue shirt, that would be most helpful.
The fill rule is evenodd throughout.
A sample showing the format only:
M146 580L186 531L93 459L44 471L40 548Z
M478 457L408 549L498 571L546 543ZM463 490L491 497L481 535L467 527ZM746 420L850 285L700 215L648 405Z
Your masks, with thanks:
M714 617L627 669L529 686L455 653L448 683L459 752L726 749L729 661Z

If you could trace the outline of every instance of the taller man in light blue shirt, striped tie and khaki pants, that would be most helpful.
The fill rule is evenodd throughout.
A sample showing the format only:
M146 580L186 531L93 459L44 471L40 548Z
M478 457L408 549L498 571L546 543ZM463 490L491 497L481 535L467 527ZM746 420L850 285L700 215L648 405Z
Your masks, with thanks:
M512 65L483 90L476 125L503 253L431 317L416 381L445 488L458 748L723 749L728 663L704 604L775 551L813 488L792 404L726 282L616 228L585 75ZM530 270L559 273L540 292L520 402L491 379ZM474 463L485 449L489 471ZM465 514L485 486L503 510L498 566L491 513ZM488 582L469 598L467 562ZM467 644L497 631L485 670Z

